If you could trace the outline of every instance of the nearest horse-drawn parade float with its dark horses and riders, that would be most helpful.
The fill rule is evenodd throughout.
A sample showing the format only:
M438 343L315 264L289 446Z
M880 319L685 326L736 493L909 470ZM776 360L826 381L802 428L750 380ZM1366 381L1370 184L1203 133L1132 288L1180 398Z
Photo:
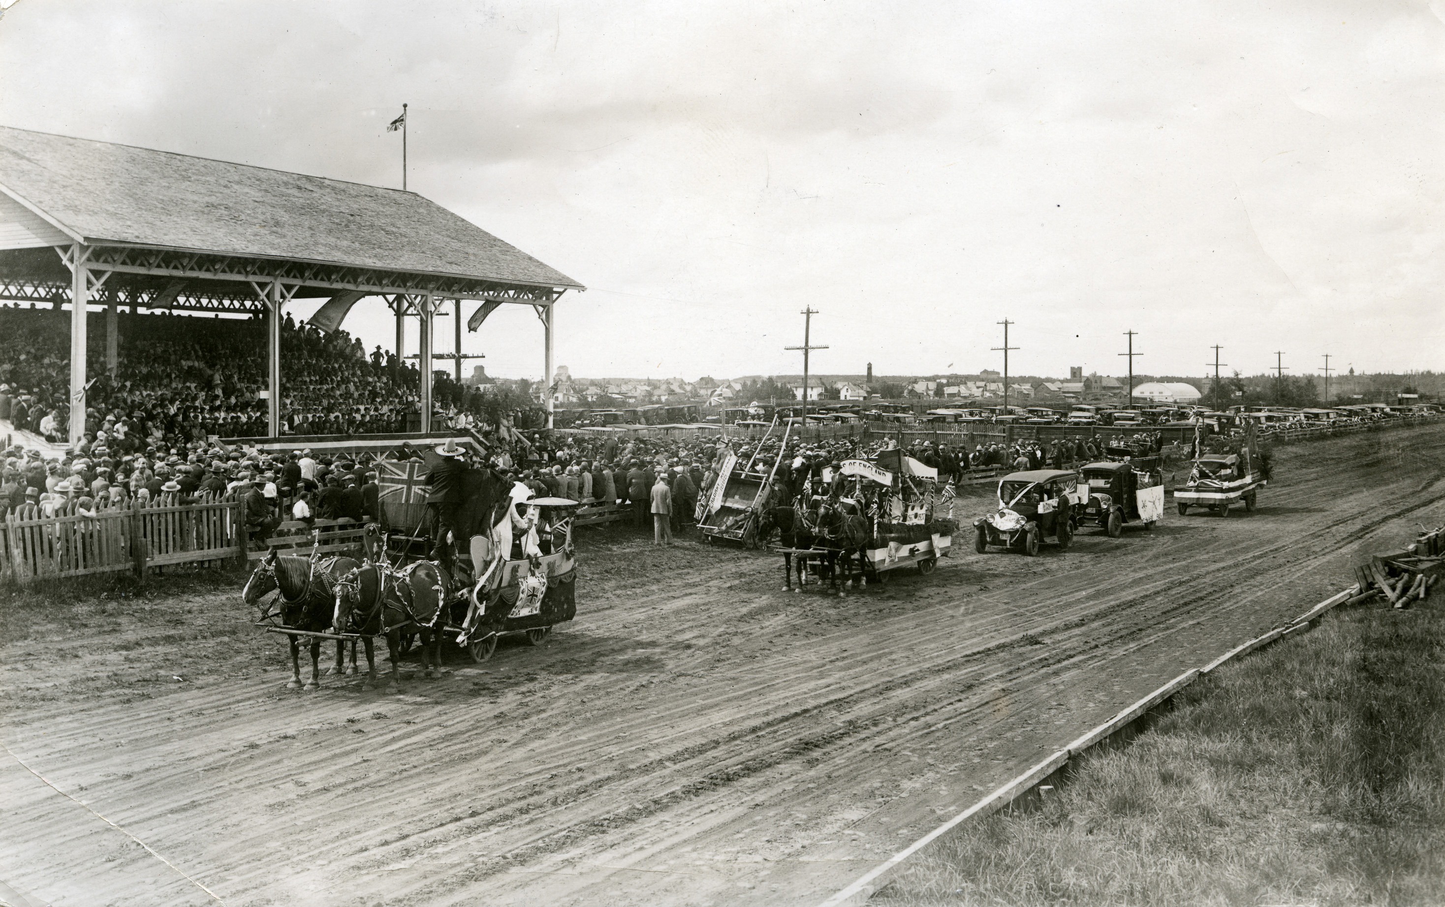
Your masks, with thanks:
M407 464L406 475L416 478ZM383 491L383 523L392 527L420 527L425 504L412 495L415 485L402 484L406 494L387 500ZM246 583L243 598L260 609L259 627L290 638L292 682L299 687L299 644L311 641L315 689L321 640L337 641L335 673L342 673L342 647L351 644L355 673L355 643L366 647L368 683L374 683L373 644L387 641L392 682L399 685L397 664L420 637L426 677L441 676L442 641L454 635L475 661L486 661L503 635L519 635L536 646L552 627L577 614L577 552L572 517L577 501L530 498L522 485L507 484L490 469L464 469L462 501L452 516L452 531L441 557L415 552L412 534L370 524L361 559L321 559L272 550ZM470 550L457 552L457 539L470 540ZM478 570L477 566L481 569ZM277 599L267 601L270 592ZM276 607L279 602L279 607Z

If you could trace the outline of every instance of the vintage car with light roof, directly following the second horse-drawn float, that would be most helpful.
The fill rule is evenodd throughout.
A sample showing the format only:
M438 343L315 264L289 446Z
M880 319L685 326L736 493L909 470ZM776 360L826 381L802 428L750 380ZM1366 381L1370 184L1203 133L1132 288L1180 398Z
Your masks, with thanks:
M981 555L996 544L1033 556L1051 536L1066 549L1074 539L1069 517L1087 494L1072 469L1010 472L998 482L998 508L974 520L974 550Z

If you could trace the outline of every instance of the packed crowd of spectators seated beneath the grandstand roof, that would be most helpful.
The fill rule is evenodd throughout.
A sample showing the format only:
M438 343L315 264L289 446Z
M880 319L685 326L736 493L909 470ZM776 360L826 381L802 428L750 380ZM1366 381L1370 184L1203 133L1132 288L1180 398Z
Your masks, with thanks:
M104 367L103 316L91 315L87 443L123 452L207 436L264 436L266 326L256 319L129 315L118 319L114 376ZM0 419L49 441L69 429L69 313L0 306ZM477 409L470 394L439 380L441 415ZM394 354L367 357L345 329L282 325L282 419L289 435L405 432L419 419L416 365ZM104 436L103 436L104 433ZM117 433L120 438L117 438Z

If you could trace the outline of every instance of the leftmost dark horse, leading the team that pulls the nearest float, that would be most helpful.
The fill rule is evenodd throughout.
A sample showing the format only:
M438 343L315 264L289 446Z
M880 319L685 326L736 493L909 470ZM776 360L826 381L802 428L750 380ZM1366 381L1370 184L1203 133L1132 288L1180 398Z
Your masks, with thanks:
M251 572L250 579L241 589L241 599L251 608L260 608L260 601L273 589L280 594L276 602L266 605L260 620L280 618L283 627L305 633L327 633L331 627L331 598L337 576L353 570L358 563L351 557L298 557L295 555L279 555L275 550L262 557ZM286 686L298 689L301 686L301 644L299 637L288 634L290 640L290 683ZM332 673L342 673L344 643L337 640L337 663ZM306 689L314 690L321 686L321 638L311 637L311 682ZM351 646L351 673L355 673L357 650Z

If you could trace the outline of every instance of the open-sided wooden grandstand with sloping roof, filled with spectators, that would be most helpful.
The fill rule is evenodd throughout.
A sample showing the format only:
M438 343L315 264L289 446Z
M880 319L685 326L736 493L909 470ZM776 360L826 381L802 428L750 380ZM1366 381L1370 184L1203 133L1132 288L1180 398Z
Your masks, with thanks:
M533 306L551 374L568 289L584 287L415 192L0 127L0 300L29 306L3 312L0 371L22 420L69 442L105 415L178 439L410 429L412 413L425 433L434 383L416 376L442 303L458 324L462 300L473 324ZM396 316L390 365L340 331L367 298ZM290 325L293 299L325 299L331 331Z

